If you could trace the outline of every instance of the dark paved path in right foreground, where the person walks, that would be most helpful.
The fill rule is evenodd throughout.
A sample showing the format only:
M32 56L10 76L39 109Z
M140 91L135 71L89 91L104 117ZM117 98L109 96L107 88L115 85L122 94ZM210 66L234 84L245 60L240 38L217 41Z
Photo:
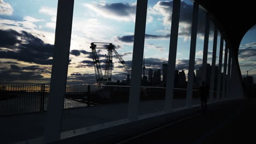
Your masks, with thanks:
M256 100L225 101L206 115L184 118L119 143L256 143Z

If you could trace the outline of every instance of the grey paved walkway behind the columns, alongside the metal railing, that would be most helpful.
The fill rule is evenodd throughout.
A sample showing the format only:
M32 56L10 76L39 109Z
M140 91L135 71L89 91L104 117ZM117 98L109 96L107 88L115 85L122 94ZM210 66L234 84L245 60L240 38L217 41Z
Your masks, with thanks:
M193 99L193 104L199 104L199 99ZM184 107L185 99L174 99L173 107ZM139 115L164 110L164 100L141 101ZM12 143L43 136L45 113L8 116L0 118L0 141ZM89 127L127 117L127 103L97 105L78 109L68 109L63 112L62 131Z

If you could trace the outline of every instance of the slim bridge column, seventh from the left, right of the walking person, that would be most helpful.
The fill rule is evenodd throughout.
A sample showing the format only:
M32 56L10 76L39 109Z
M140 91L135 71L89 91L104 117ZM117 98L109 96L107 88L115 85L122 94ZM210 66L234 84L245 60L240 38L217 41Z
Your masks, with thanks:
M223 95L220 98L220 86L222 85L222 56L223 56L223 35L220 35L220 47L219 47L219 71L218 71L218 81L217 81L217 95L216 98L217 100L223 99Z

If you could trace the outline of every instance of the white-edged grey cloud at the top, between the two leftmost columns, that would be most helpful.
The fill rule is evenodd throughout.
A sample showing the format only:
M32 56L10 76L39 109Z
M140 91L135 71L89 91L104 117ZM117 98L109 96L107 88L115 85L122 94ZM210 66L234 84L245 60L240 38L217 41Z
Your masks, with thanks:
M120 21L135 21L136 3L92 3L85 7L109 19Z

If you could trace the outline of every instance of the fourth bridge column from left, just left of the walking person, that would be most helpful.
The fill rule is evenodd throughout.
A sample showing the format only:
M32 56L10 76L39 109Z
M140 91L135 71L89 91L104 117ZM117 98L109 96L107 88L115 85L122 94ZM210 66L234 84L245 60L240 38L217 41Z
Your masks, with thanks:
M199 4L195 1L193 5L193 20L190 41L189 53L189 70L188 70L188 86L187 86L187 107L192 105L193 96L193 74L195 68L195 50L196 50L196 34L197 34L197 20L198 20Z

